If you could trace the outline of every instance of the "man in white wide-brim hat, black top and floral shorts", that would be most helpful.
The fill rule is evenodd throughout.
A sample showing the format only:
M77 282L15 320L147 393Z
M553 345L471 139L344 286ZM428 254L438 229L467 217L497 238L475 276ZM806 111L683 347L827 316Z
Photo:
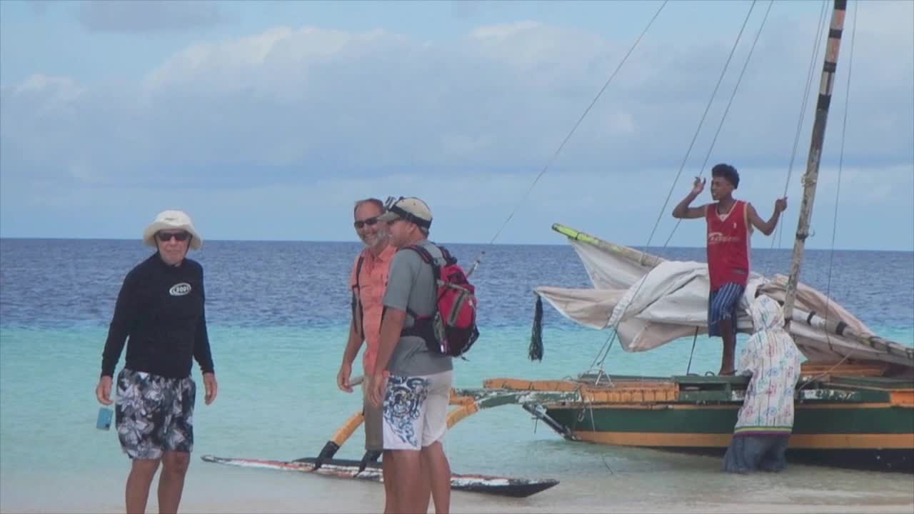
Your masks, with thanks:
M194 446L193 360L203 372L207 405L217 382L207 337L203 268L186 258L203 238L181 210L165 210L145 230L143 242L156 252L127 273L101 358L99 402L112 403L114 369L124 344L127 357L117 375L115 424L132 466L127 477L127 512L144 512L153 477L162 463L161 512L176 512Z

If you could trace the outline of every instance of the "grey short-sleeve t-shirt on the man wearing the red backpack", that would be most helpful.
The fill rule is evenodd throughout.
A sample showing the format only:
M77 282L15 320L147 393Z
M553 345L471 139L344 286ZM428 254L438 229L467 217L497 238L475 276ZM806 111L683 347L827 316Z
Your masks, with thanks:
M425 248L438 264L443 263L441 251L428 240L416 241ZM418 316L435 312L438 287L431 266L422 260L419 252L399 250L390 261L388 286L384 292L384 306L409 310ZM403 327L412 327L413 317L406 315ZM400 337L397 348L390 356L388 371L391 375L415 377L433 375L453 369L451 357L432 353L421 337Z

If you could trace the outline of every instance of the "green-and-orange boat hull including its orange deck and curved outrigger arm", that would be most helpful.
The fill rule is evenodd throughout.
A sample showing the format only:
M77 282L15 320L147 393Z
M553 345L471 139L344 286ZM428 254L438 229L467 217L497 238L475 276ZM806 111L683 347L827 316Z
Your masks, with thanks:
M811 378L797 387L790 460L914 473L914 380L805 372ZM515 404L570 441L723 455L748 385L745 376L497 377L454 391L452 403L462 406L449 426Z

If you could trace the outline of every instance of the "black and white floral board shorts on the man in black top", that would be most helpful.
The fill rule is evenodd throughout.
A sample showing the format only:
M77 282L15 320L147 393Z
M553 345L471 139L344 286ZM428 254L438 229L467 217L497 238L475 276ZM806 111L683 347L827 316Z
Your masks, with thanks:
M194 449L194 399L190 377L168 379L122 369L117 376L114 422L123 453L132 459L157 459L163 452Z

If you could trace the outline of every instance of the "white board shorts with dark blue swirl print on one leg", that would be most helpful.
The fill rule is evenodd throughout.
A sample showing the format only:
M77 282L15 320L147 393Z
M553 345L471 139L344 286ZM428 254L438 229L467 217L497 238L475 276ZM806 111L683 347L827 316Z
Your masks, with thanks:
M448 430L453 371L434 375L391 375L382 407L384 449L420 450Z

